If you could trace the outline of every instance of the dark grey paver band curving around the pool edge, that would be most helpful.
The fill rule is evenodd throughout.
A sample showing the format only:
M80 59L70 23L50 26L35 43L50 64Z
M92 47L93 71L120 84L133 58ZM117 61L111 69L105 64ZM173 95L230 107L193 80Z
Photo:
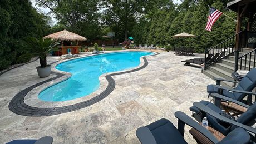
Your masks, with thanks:
M157 52L155 52L155 53L156 54L151 55L151 56L156 56L157 54L159 54ZM32 86L22 90L21 92L17 93L12 98L11 102L9 103L9 110L16 113L17 115L23 115L23 116L52 116L52 115L58 115L58 114L61 114L61 113L71 112L71 111L79 110L81 108L85 108L87 106L90 106L94 103L97 103L97 102L103 100L112 91L114 91L116 83L115 83L115 80L112 78L112 76L122 75L124 73L139 71L139 70L147 67L149 62L147 62L146 57L147 56L143 57L144 64L139 68L132 69L130 71L117 72L117 73L111 73L109 75L106 75L105 77L106 77L106 80L108 82L107 88L103 92L101 92L99 95L91 98L90 100L83 101L83 102L80 102L80 103L76 103L75 105L69 105L69 106L63 106L63 107L52 107L52 108L31 107L31 106L28 106L26 103L24 103L25 96L33 88L36 88L36 87L42 85L43 83L55 80L55 79L60 78L60 77L65 75L65 74L62 74L62 73L52 72L54 75L56 75L56 77L50 78L48 80L45 80L45 81L42 81L42 82L39 82L39 83L36 83L35 85L32 85Z

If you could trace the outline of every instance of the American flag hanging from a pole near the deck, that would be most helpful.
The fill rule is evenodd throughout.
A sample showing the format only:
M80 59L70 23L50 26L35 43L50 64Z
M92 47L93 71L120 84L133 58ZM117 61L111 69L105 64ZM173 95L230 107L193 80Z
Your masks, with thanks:
M217 21L217 19L221 16L222 12L220 12L218 9L210 8L209 11L210 15L208 17L206 30L211 31L211 27L213 27L213 24Z

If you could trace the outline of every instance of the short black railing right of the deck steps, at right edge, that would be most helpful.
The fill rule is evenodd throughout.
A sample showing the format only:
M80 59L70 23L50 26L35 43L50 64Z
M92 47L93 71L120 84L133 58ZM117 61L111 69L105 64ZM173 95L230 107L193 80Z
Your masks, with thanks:
M256 59L256 48L252 51L245 53L243 56L238 58L238 62L235 63L236 67L240 70L249 70L255 68ZM240 63L240 66L238 65ZM235 69L237 71L237 69Z

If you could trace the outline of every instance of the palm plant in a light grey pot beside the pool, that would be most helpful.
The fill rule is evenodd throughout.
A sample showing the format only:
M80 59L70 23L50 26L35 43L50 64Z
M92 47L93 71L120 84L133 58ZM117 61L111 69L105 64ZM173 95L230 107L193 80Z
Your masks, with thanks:
M27 43L27 48L31 52L32 56L38 56L40 66L36 67L38 76L48 77L51 73L51 65L47 65L47 54L55 50L60 42L57 42L51 38L34 38L27 37L24 39Z

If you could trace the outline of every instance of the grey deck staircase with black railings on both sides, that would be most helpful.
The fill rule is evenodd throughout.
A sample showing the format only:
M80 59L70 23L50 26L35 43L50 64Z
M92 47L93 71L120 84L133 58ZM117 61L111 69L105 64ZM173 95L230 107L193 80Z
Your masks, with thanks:
M206 76L234 80L231 74L237 69L255 68L256 49L242 48L235 51L235 38L238 35L238 47L247 47L248 32L244 29L212 48L205 48L205 64L202 72ZM234 83L221 82L221 85L232 88Z

